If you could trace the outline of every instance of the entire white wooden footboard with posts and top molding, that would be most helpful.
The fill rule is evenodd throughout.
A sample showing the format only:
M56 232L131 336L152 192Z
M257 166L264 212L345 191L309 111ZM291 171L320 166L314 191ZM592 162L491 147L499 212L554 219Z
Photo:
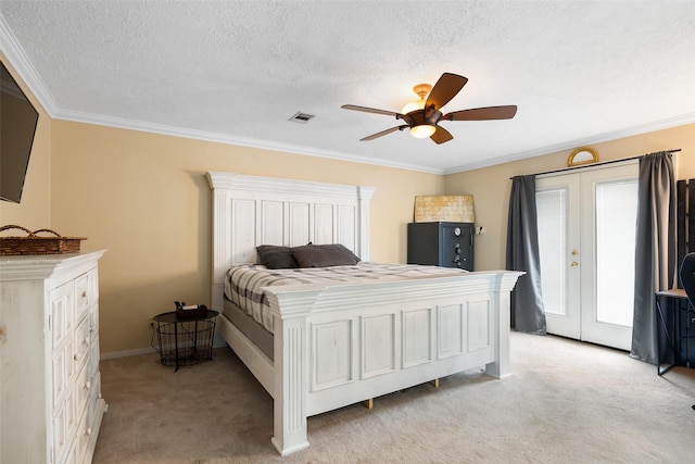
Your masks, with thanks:
M268 288L278 451L308 446L307 416L475 367L509 374L509 291L521 274Z

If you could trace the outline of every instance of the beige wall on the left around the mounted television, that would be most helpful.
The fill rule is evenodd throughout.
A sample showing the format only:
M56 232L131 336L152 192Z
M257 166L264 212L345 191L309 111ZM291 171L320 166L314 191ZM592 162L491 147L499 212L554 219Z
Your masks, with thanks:
M14 67L0 53L12 77L17 81L36 111L39 121L34 136L34 146L29 155L29 165L22 190L21 203L0 201L0 226L8 224L20 225L31 230L49 227L51 224L51 125L52 121L34 95L24 85ZM4 235L22 236L21 230L13 230Z

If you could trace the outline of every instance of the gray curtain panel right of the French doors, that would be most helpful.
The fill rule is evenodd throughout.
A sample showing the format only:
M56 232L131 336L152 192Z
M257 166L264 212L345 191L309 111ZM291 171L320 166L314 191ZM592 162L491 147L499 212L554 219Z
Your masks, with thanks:
M656 364L658 351L654 293L673 287L677 260L675 177L670 152L645 154L640 159L637 197L634 321L630 355Z

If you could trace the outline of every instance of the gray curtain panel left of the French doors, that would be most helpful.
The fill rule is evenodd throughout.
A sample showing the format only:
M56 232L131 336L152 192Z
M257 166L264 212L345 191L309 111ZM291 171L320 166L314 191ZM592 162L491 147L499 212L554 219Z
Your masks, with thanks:
M535 210L535 175L511 178L507 222L507 269L525 271L511 292L511 327L545 335L541 296L541 259Z

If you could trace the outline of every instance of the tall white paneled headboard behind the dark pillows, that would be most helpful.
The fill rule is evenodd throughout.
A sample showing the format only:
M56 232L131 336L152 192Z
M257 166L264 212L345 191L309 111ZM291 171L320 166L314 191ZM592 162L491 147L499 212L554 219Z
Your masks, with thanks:
M258 244L342 243L369 260L374 187L208 172L213 190L212 309L220 310L224 277L256 262Z

